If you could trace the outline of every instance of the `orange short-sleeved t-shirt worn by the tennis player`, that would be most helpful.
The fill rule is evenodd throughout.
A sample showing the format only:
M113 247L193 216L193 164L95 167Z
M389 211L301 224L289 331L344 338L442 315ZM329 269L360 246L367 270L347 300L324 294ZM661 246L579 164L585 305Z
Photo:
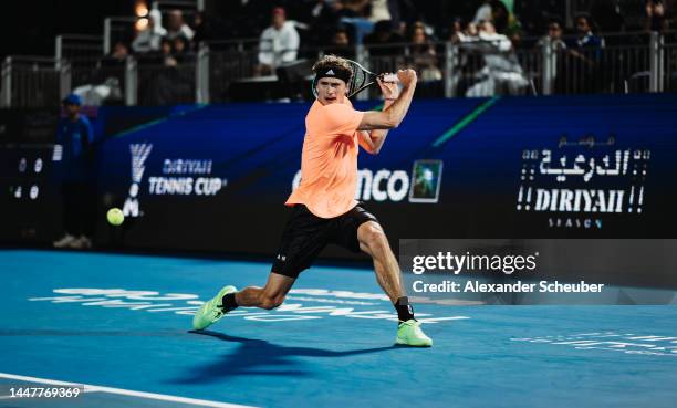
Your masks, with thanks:
M357 126L363 112L343 104L315 101L305 116L301 185L285 206L302 203L317 217L334 218L357 205Z

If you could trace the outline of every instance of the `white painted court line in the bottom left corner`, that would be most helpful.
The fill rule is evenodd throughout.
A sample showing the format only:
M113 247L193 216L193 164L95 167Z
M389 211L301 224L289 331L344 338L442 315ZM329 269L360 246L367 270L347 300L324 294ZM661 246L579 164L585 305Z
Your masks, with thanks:
M256 407L251 407L251 406L247 406L247 405L209 401L209 400L206 400L206 399L195 399L195 398L177 397L177 396L165 395L165 394L134 391L134 390L131 390L131 389L101 387L101 386L94 386L94 385L81 384L81 383L59 381L59 380L55 380L55 379L45 379L45 378L37 378L37 377L18 376L15 374L7 374L7 373L0 373L0 378L17 379L17 380L28 381L28 383L38 383L38 384L48 384L48 385L58 385L58 386L84 386L85 393L96 393L96 391L98 391L98 393L108 393L108 394L125 395L125 396L138 397L138 398L157 399L157 400L160 400L160 401L189 404L189 405L196 405L196 406L200 406L200 407L256 408Z

